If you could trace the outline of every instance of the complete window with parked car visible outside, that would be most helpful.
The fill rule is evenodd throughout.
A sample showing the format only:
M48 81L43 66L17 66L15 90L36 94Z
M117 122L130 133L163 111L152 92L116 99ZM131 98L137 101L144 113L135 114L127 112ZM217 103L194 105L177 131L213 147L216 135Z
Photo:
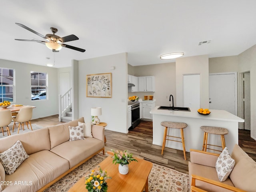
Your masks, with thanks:
M47 74L30 72L31 75L31 100L47 99Z

